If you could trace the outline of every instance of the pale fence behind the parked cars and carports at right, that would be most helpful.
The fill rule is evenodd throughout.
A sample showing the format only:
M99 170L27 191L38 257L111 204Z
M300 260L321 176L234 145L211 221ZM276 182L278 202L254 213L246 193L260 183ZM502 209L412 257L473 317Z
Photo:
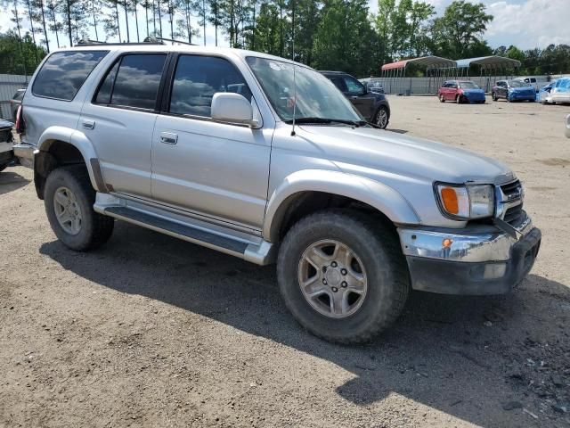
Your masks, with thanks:
M505 76L476 76L472 78L459 78L460 80L473 80L485 92L491 92L491 87L497 80L504 79ZM512 77L507 77L512 78ZM437 89L444 84L445 80L451 80L452 77L441 78L370 78L371 81L379 81L384 86L386 94L436 94ZM368 80L368 79L366 79ZM540 76L536 78L540 86L547 84L547 77Z

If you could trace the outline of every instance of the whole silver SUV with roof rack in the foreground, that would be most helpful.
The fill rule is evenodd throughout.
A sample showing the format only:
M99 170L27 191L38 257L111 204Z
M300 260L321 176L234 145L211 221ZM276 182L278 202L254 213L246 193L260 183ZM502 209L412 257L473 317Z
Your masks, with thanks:
M70 249L119 219L276 261L287 307L332 342L371 339L411 289L509 292L541 242L500 162L371 126L263 53L78 45L40 65L19 118L15 153Z

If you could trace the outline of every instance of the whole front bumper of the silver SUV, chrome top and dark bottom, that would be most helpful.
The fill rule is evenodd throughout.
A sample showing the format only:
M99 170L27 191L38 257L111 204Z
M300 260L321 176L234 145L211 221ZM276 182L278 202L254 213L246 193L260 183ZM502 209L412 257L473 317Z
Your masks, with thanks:
M399 228L412 288L466 295L509 292L533 268L542 238L530 218L516 229L518 239L499 229L460 235Z

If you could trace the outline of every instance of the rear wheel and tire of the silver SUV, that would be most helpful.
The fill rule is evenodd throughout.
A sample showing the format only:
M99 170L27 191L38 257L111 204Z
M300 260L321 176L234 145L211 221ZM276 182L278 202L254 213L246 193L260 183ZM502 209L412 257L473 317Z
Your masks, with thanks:
M95 212L94 202L95 191L85 165L54 169L47 176L45 212L53 233L69 249L94 250L109 240L114 219Z

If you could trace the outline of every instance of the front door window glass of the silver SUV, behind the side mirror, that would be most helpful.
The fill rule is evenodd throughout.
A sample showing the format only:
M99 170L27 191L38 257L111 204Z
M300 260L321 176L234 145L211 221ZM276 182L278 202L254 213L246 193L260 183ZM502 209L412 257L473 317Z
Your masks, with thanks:
M181 55L170 96L170 112L209 118L216 92L233 92L251 101L251 91L239 70L224 58Z

